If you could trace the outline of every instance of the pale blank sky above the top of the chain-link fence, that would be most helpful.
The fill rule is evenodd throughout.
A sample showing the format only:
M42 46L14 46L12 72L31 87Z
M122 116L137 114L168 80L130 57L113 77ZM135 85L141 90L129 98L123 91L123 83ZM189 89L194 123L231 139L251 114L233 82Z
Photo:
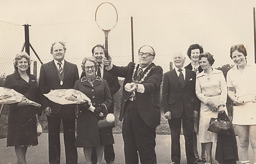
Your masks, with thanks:
M46 24L94 20L106 0L0 0L0 20L15 24ZM108 0L119 18L247 10L255 0Z

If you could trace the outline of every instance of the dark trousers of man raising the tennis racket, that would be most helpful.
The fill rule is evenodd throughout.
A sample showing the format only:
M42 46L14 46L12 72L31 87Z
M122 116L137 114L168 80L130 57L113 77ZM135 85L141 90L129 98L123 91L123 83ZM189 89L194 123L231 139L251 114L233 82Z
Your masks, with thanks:
M140 117L136 102L125 104L122 134L125 164L156 164L155 129L146 125ZM139 153L139 156L138 156Z

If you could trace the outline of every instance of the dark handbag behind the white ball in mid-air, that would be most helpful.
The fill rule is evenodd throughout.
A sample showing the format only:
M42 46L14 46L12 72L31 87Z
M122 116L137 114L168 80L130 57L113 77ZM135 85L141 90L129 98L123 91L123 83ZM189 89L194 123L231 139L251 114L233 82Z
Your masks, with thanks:
M108 109L106 109L106 112L104 112L104 115L102 117L98 117L99 130L115 127L114 119L115 119L114 115L112 113L108 113Z

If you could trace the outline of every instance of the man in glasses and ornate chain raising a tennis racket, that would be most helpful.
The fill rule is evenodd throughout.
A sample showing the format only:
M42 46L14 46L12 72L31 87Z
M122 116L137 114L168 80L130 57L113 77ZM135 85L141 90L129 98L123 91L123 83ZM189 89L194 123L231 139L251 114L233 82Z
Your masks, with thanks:
M119 67L103 58L112 75L124 77L119 120L123 120L124 155L126 164L156 164L155 129L160 124L160 85L163 70L153 62L155 51L151 46L139 49L139 62ZM139 153L139 156L138 156Z

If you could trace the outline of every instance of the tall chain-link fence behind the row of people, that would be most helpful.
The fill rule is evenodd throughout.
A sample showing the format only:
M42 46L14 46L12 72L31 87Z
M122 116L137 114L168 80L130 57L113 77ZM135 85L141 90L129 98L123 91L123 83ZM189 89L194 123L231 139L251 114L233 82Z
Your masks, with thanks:
M199 43L203 46L204 52L210 52L214 55L214 68L222 69L224 74L229 70L233 61L229 57L231 45L244 43L248 54L253 54L253 39L251 38L251 28L248 26L249 20L244 20L245 26L237 26L236 17L230 16L222 18L218 13L207 13L209 22L200 22L202 14L191 15L172 15L162 17L143 17L133 18L133 46L134 60L138 61L138 49L143 45L154 47L156 57L154 63L163 68L163 73L170 70L170 61L172 53L181 51L186 54L189 45ZM166 22L169 22L166 24ZM6 75L14 72L12 61L14 54L20 52L24 43L24 27L22 25L12 24L0 21L0 79L4 80ZM248 31L240 33L241 31ZM50 54L52 43L62 41L66 43L67 51L65 60L78 66L79 74L82 73L80 67L82 58L91 55L91 48L97 44L104 44L105 38L103 32L97 27L94 21L91 22L70 22L57 24L31 25L29 27L30 44L35 52L41 58L43 63L53 60ZM119 19L117 26L110 31L109 54L112 56L112 62L118 66L125 66L132 60L132 39L131 39L131 19ZM33 61L31 64L31 73L39 77L41 64L38 58L30 51ZM249 56L248 56L249 57ZM251 59L253 57L251 56ZM189 64L187 57L185 65ZM119 79L123 84L123 79ZM2 86L2 85L1 85ZM122 88L122 86L121 86ZM121 89L114 96L115 98L115 116L116 127L114 133L121 133L122 122L118 121L121 104ZM4 106L1 110L0 131L5 131L7 126L7 108ZM230 110L231 111L231 110ZM45 115L40 118L43 127L47 129ZM4 125L3 125L4 124ZM157 127L157 134L170 134L167 120L161 117L161 124ZM1 137L6 137L0 134Z

